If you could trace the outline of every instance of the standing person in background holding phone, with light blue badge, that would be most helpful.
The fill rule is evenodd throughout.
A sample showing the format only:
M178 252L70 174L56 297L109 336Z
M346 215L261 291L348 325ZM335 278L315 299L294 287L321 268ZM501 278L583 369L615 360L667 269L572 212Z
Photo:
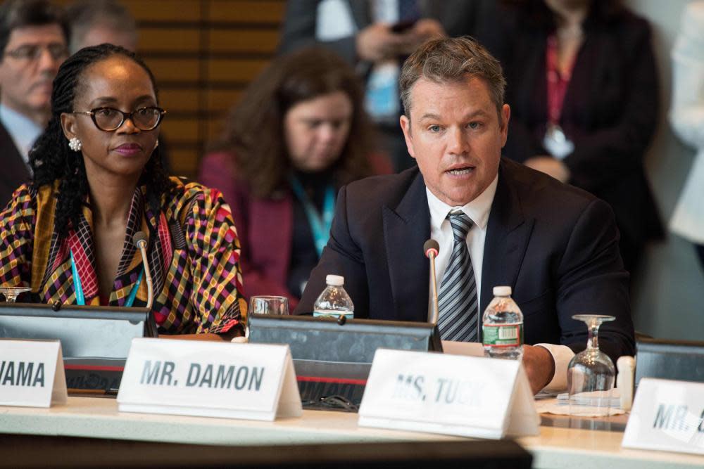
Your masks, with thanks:
M398 128L401 62L432 37L483 37L494 0L289 0L279 51L320 44L355 67L370 113L395 169L415 164Z

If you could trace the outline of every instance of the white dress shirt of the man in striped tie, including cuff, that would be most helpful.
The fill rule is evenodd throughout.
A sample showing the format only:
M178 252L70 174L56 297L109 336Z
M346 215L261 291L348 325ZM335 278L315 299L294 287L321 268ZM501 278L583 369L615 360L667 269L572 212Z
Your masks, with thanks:
M486 240L486 226L489 223L489 213L491 212L491 204L494 203L494 195L496 194L496 185L498 184L498 175L491 181L489 187L484 192L479 194L470 203L462 207L451 207L447 205L429 188L425 188L428 197L428 208L430 209L430 237L436 240L440 246L437 257L435 258L435 273L437 276L438 290L442 284L442 277L450 262L452 247L454 244L454 236L450 221L447 215L450 212L461 210L470 217L472 228L467 233L467 248L470 250L472 259L472 269L474 270L474 283L477 284L477 304L482 304L482 262L484 261L484 240ZM494 285L499 286L499 285ZM429 286L432 289L432 285ZM432 290L431 290L432 292ZM428 295L429 303L428 310L432 309L432 293ZM520 304L518 305L520 307ZM484 311L477 311L479 321L477 327L481 327L482 314ZM479 334L477 334L479 337ZM548 392L559 392L567 388L567 365L570 364L574 352L570 347L565 345L554 344L536 344L548 349L553 359L555 360L555 375L550 383L545 387Z

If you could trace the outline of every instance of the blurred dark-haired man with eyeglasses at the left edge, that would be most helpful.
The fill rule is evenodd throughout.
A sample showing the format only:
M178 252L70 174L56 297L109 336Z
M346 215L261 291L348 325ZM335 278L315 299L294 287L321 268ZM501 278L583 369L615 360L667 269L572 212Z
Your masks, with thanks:
M30 179L29 151L51 113L51 86L68 57L68 23L43 0L0 6L0 207Z

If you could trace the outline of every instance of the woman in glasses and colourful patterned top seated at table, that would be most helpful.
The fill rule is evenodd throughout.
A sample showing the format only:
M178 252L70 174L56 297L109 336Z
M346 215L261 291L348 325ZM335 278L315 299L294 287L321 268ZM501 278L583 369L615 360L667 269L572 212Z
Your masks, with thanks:
M1 214L0 282L42 302L144 307L134 233L146 233L152 311L165 333L241 330L239 242L218 191L169 177L158 155L156 83L110 44L66 60L51 120L30 152L31 184Z

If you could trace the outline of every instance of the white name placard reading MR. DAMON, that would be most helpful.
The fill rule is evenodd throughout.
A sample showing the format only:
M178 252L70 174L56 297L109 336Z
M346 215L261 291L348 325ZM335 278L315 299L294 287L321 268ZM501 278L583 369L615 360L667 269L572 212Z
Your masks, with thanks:
M301 416L288 345L135 338L118 392L124 412L274 420Z

